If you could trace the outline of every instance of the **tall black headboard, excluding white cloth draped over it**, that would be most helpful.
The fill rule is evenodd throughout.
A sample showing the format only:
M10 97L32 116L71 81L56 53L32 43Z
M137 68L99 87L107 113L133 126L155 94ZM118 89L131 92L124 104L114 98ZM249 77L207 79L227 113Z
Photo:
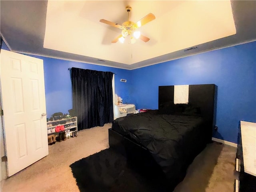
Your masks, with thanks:
M159 86L158 109L166 103L174 104L174 86ZM188 104L199 107L209 128L208 140L212 140L212 130L216 124L217 86L215 84L189 85Z

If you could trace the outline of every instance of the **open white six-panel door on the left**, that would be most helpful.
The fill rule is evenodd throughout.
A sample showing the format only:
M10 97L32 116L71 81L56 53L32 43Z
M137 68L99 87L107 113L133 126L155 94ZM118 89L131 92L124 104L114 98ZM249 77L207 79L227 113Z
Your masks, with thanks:
M48 155L43 60L1 50L8 176Z

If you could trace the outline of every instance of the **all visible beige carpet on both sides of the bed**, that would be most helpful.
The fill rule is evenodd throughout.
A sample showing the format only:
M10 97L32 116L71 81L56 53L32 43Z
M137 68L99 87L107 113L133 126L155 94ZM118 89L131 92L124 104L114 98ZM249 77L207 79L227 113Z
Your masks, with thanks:
M1 191L76 192L70 164L108 148L108 128L78 132L78 137L49 146L49 155L1 182ZM174 192L233 192L236 148L213 142L190 165Z

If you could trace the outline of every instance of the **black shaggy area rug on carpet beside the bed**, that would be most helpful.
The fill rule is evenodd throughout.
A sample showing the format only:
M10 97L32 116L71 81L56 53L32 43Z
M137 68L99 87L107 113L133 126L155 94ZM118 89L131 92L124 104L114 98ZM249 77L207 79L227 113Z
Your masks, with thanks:
M111 148L78 160L70 167L81 192L166 191L157 174L134 166Z

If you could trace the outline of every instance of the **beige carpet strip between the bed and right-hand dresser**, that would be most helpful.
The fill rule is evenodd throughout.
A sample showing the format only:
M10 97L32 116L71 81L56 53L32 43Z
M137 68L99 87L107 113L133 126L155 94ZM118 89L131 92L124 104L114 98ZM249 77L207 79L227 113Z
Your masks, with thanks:
M217 142L194 159L174 192L234 192L236 148Z

